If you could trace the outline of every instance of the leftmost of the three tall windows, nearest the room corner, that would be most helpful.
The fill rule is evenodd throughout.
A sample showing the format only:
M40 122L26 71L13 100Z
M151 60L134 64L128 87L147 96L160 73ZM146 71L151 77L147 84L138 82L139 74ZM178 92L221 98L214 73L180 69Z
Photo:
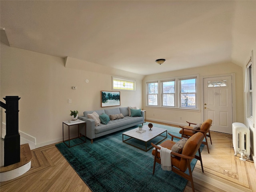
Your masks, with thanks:
M158 82L147 83L147 104L158 106Z

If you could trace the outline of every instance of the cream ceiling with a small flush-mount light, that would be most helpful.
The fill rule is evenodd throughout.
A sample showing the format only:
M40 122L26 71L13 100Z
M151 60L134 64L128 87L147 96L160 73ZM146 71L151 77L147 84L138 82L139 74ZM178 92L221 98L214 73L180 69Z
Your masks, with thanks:
M11 47L144 75L242 66L256 43L256 1L1 0L0 9Z

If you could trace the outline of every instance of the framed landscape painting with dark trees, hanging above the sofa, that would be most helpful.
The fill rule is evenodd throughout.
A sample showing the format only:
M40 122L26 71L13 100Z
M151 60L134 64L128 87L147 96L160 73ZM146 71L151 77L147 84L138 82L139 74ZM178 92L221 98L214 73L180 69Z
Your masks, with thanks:
M119 106L120 91L101 91L101 107Z

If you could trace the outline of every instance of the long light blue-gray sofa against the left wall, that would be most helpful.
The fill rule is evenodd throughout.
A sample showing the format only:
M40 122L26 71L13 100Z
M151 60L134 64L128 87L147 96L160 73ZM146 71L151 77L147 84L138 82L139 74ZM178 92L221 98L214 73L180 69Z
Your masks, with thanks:
M87 118L87 114L92 114L93 112L96 112L98 115L105 113L108 116L122 113L124 118L110 120L106 125L101 123L99 126L95 126L95 121L93 119ZM131 117L129 116L128 107L120 107L112 109L85 111L84 116L79 116L78 119L86 122L86 137L88 137L91 142L93 142L94 138L98 138L138 124L143 124L144 111L141 111L141 114L142 117ZM85 135L83 128L79 128L79 132L80 134Z

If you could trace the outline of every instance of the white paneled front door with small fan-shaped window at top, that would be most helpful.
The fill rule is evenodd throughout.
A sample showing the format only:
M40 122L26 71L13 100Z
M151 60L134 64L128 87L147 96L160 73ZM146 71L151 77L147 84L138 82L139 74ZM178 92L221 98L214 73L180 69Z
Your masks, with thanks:
M204 120L210 130L232 134L232 76L204 78Z

